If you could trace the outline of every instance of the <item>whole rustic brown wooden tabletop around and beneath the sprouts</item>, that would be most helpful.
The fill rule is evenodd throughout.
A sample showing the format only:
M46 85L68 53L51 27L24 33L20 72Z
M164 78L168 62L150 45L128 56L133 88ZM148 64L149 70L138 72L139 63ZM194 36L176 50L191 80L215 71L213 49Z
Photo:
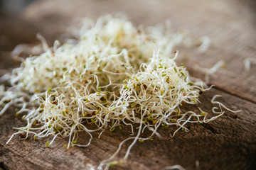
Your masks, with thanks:
M181 48L179 62L184 62L194 77L204 78L204 72L194 66L210 68L223 60L226 69L220 69L210 84L215 89L201 96L202 107L210 110L210 98L221 94L220 100L240 113L226 112L208 124L188 125L189 132L178 132L169 137L170 130L161 129L163 139L137 143L127 162L113 169L164 169L180 164L185 169L256 169L256 65L245 71L243 60L256 57L256 9L252 0L180 0L180 1L93 1L60 0L37 1L23 11L21 18L32 24L49 42L62 39L68 26L82 16L97 18L105 13L124 11L137 25L152 26L170 18L174 30L186 30L193 37L207 35L210 49L204 53ZM26 27L21 27L25 32ZM7 50L6 50L7 51ZM11 62L8 52L1 57L1 69ZM3 55L2 55L3 56ZM196 109L193 106L187 109ZM110 157L119 142L129 136L125 130L103 133L101 139L92 140L86 148L63 149L66 139L58 139L53 147L46 148L47 139L34 142L15 137L9 145L5 142L15 132L13 127L24 123L14 118L11 109L0 117L0 167L1 169L88 169L86 164L97 166ZM127 130L129 130L127 128ZM81 142L87 136L81 134ZM118 155L124 157L130 142ZM196 167L199 162L199 167Z

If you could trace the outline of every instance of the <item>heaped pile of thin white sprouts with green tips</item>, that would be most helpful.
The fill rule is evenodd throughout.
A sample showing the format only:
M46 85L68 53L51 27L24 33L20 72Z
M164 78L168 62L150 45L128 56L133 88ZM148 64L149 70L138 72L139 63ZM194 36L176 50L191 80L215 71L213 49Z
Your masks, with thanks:
M92 132L127 126L132 133L127 140L133 140L127 159L135 142L160 137L161 126L175 125L173 136L181 128L187 130L186 123L207 123L224 113L213 108L217 115L206 118L208 113L201 109L181 111L184 104L195 105L208 89L202 81L191 81L183 64L177 66L178 52L173 48L186 38L172 33L168 23L135 28L124 18L103 16L96 23L85 19L77 39L63 45L55 41L48 47L38 38L45 52L27 57L21 67L1 78L10 86L0 86L0 115L14 106L16 115L22 114L27 122L14 135L52 136L47 147L56 137L68 137L66 148L86 147ZM215 97L212 103L218 103ZM151 135L141 137L144 130ZM90 135L87 145L79 142L81 131Z

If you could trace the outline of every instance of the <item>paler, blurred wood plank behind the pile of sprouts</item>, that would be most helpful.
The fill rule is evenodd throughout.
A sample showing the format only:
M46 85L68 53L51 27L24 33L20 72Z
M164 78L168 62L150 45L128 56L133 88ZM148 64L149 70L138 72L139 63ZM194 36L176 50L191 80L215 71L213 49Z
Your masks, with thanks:
M135 6L136 4L136 6ZM207 35L212 45L204 54L184 51L189 71L193 63L210 68L224 60L227 69L210 79L219 89L256 102L255 65L245 72L243 60L256 56L254 1L37 1L24 11L23 17L41 28L48 40L60 38L66 28L82 16L97 18L105 13L124 11L132 22L152 26L170 18L174 30L187 30L191 35ZM45 12L47 11L47 13ZM256 58L256 57L255 57ZM193 75L193 74L192 74ZM200 78L204 76L201 75Z

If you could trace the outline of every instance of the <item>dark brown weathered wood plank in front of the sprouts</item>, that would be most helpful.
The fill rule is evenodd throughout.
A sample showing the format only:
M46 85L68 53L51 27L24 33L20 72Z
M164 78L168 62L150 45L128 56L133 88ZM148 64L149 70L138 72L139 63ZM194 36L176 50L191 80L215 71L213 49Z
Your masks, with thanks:
M256 164L256 105L241 98L225 94L213 89L201 96L202 108L210 110L213 106L210 98L214 94L222 94L226 106L240 113L226 112L225 115L208 124L190 124L190 132L178 132L175 137L169 137L175 127L169 130L161 129L162 139L137 143L127 162L117 169L164 169L165 166L181 164L186 169L195 169L198 160L200 169L254 169ZM196 111L196 107L190 107ZM20 140L14 137L9 145L12 127L24 124L14 119L10 111L0 118L0 162L4 169L86 169L86 164L96 166L100 161L110 157L117 149L119 142L129 137L129 128L107 131L101 139L92 140L89 147L63 148L67 139L58 139L53 147L46 148L46 140ZM49 140L49 139L48 139ZM85 143L88 136L80 134L78 142ZM127 142L118 158L124 157L125 150L131 142Z

